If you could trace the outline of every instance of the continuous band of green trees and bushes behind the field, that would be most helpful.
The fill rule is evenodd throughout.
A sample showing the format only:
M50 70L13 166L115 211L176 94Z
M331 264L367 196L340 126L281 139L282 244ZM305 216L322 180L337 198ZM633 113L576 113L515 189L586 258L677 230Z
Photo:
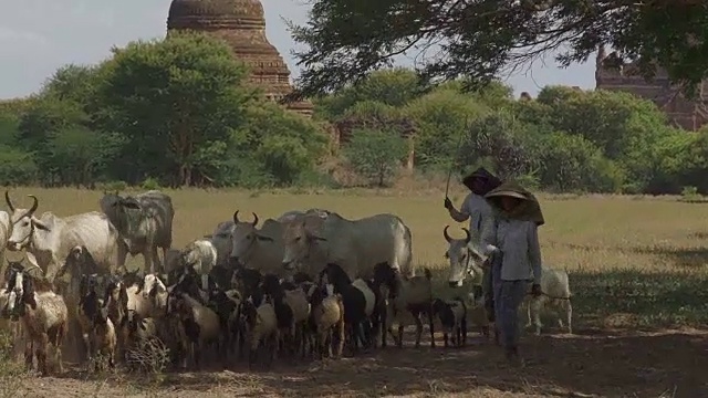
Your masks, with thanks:
M170 34L59 69L0 102L4 185L170 187L444 184L485 166L556 192L708 192L708 127L685 132L627 93L420 81L383 69L313 97L312 118L267 102L218 39ZM442 181L442 182L441 182Z

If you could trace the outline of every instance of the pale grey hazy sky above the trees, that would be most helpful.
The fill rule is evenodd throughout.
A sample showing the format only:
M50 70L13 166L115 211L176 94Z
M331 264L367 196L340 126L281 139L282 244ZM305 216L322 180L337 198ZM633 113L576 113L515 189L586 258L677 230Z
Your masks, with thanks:
M38 91L60 66L96 63L110 55L112 45L137 39L162 38L171 0L2 0L0 13L0 98ZM303 22L306 7L300 0L262 0L267 33L293 74L290 55L294 43L281 17ZM510 76L518 94L534 95L548 84L593 88L594 60L566 70L538 62L530 73Z

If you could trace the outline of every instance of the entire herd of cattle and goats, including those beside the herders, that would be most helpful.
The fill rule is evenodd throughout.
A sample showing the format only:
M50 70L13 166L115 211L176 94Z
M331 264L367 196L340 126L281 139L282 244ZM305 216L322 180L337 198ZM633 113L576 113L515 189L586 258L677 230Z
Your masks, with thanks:
M448 338L465 345L468 324L489 337L478 290L436 298L430 271L417 275L413 266L410 230L393 214L347 220L310 209L259 228L256 213L249 222L236 211L176 250L175 209L163 192L106 193L101 211L64 218L38 216L39 200L29 197L30 209L17 208L6 191L9 211L0 211L2 252L24 253L2 273L0 327L23 341L25 363L37 359L42 374L50 348L62 371L62 346L86 364L129 368L160 347L168 364L185 368L336 357L345 345L353 354L385 347L388 336L402 347L408 325L419 346L424 323L433 347L436 328L445 346ZM465 239L444 230L450 287L478 279L485 261L464 230ZM143 270L126 269L128 253L143 255ZM529 300L529 324L540 333L542 306L555 306L571 332L568 274L544 268L542 291Z

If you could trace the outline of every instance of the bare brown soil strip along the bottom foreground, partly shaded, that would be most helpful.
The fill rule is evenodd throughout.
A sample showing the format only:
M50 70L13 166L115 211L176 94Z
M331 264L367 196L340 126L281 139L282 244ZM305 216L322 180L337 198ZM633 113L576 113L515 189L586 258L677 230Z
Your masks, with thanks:
M104 377L76 368L30 377L30 397L706 397L708 332L525 336L523 368L471 334L465 348L388 347L337 360L278 363L271 370ZM25 389L25 391L21 391ZM1 390L1 389L0 389Z

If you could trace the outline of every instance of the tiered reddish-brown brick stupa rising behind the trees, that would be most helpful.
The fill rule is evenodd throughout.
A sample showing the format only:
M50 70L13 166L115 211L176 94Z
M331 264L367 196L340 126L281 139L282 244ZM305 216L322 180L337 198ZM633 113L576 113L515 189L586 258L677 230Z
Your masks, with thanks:
M266 36L266 15L260 0L173 0L167 32L194 30L223 39L250 69L249 82L263 88L270 101L292 92L290 70ZM312 103L301 101L288 109L311 116Z

